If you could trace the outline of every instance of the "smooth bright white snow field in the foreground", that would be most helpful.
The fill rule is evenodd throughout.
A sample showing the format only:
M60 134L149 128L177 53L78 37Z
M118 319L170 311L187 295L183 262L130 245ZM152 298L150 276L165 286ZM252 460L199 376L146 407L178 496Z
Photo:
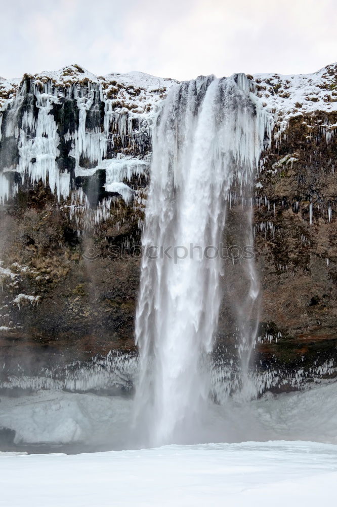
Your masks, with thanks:
M333 504L337 446L247 442L0 455L4 507Z

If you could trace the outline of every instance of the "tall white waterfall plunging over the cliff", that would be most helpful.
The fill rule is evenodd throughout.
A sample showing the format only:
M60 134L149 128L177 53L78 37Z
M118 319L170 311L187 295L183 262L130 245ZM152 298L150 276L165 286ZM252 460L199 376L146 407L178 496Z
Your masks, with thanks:
M207 354L226 277L215 247L226 224L231 185L238 185L242 199L251 188L267 123L244 75L178 85L158 115L142 238L148 255L142 259L136 316L135 422L146 445L193 441L202 425ZM256 334L248 324L259 292L251 261L245 276L247 296L236 304L243 377Z

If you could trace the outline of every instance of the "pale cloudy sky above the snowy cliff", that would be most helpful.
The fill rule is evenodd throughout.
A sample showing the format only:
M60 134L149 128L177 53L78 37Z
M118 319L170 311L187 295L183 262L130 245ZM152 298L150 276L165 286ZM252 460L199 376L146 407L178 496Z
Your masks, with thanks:
M0 76L77 63L188 80L337 61L336 0L0 0Z

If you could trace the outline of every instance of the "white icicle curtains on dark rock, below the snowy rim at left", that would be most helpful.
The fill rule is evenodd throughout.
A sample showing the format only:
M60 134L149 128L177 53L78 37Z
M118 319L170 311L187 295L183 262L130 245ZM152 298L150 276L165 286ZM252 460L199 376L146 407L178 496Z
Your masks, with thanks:
M22 82L0 110L0 141L0 205L19 186L38 182L49 185L58 202L67 202L80 185L76 177L90 178L99 170L106 174L106 192L130 204L135 192L125 182L146 175L143 152L150 143L147 119L113 107L101 84L64 87L50 79ZM106 198L105 207L111 201Z

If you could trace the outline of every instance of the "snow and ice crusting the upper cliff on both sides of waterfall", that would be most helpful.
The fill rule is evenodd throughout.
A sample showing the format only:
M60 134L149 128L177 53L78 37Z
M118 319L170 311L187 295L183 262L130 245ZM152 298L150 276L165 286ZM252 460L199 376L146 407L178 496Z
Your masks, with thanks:
M274 115L273 135L277 141L291 117L317 111L326 114L326 118L313 121L319 122L327 142L331 140L337 122L327 114L337 112L337 64L314 74L247 77L254 85L252 93ZM25 81L30 81L29 91L35 96L38 115L35 118L36 112L29 106L20 122L24 93L19 94L19 90ZM104 170L105 191L120 194L129 202L133 194L129 187L125 189L125 178L130 182L135 175L147 174L153 117L168 89L177 83L136 71L95 76L76 64L34 76L25 74L21 81L0 78L0 126L6 117L0 130L1 148L6 155L0 167L0 203L18 191L11 172L19 173L22 181L27 174L33 182L42 179L46 183L48 177L51 190L59 199L66 199L71 191L71 174L68 168L64 170L61 159L65 158L69 167L74 164L75 177ZM77 108L78 119L72 126L60 125L52 113L66 98L73 100ZM311 125L311 119L309 122ZM11 148L11 137L16 139L17 155Z

